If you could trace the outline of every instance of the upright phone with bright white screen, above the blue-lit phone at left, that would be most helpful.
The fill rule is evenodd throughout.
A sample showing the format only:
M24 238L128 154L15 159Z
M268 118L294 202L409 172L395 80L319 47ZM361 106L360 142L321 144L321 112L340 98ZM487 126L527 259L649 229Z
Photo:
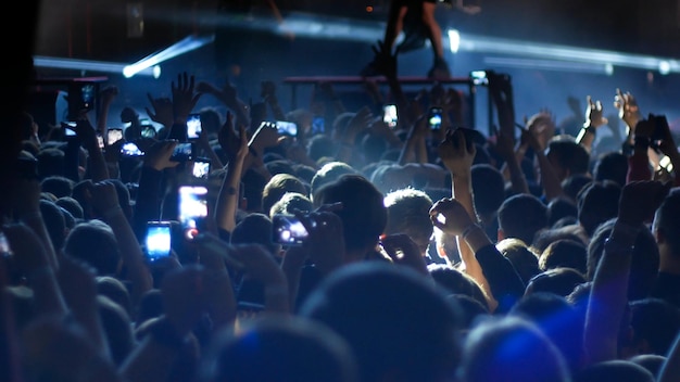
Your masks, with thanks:
M204 230L207 218L207 188L205 186L180 186L179 224L188 240Z

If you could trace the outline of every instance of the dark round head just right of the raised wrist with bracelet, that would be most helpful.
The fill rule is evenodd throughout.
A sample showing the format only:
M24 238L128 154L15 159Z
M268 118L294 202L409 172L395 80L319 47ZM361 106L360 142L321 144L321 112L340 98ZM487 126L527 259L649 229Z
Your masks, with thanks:
M499 208L499 228L505 238L531 245L536 233L547 227L547 206L537 196L521 193L506 199Z

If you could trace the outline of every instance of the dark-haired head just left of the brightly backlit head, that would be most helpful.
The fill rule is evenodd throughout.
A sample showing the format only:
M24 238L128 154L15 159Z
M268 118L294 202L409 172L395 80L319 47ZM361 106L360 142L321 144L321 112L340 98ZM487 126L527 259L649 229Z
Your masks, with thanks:
M348 251L364 250L378 243L387 225L387 207L383 194L357 174L345 174L322 187L312 202L319 207L341 202L335 212L342 220L344 244Z

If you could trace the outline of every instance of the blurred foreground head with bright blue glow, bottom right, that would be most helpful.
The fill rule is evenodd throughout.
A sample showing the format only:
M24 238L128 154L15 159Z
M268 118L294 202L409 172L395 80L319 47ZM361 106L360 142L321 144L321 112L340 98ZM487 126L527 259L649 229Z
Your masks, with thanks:
M557 347L536 323L517 316L482 320L469 331L459 377L467 382L570 381Z

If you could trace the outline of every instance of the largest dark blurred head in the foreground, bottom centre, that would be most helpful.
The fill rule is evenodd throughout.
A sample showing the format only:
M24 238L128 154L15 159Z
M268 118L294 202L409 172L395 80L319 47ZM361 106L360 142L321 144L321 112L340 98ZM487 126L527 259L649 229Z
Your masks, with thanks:
M362 381L393 372L410 381L438 381L455 373L461 356L454 306L412 268L358 262L324 279L300 315L348 341Z

